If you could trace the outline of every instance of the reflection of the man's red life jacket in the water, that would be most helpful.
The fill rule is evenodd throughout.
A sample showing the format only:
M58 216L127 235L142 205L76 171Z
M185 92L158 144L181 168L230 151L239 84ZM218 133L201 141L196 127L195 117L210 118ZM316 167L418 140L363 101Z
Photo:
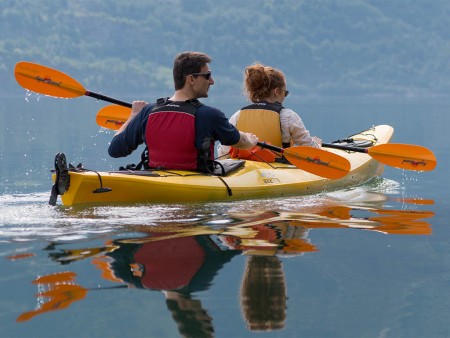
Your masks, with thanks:
M191 283L207 253L196 236L171 238L176 235L155 232L143 238L142 243L112 242L113 250L94 258L92 263L102 271L102 278L115 283L157 290L180 289Z

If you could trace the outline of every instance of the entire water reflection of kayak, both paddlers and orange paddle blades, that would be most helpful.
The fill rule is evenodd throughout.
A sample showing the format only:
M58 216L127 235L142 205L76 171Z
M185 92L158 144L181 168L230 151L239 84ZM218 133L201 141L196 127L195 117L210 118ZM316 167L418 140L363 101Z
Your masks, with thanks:
M285 326L287 287L282 258L319 251L308 238L315 229L358 229L390 235L429 235L424 219L430 211L389 210L370 207L327 206L309 213L261 212L221 215L202 224L130 226L135 235L111 239L102 247L65 249L53 243L46 250L62 265L90 260L104 280L117 287L162 291L166 306L182 336L213 336L213 321L195 293L205 291L236 255L247 255L240 302L249 330L277 330ZM74 272L42 276L38 307L17 321L66 309L91 291L76 282ZM99 290L95 288L92 290Z

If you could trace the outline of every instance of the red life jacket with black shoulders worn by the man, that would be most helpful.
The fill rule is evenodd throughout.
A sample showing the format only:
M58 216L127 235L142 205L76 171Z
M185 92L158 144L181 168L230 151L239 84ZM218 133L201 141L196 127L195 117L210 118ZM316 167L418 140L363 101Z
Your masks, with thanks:
M195 116L198 100L185 102L158 99L148 116L145 140L150 168L202 170L213 160L214 143L195 147Z

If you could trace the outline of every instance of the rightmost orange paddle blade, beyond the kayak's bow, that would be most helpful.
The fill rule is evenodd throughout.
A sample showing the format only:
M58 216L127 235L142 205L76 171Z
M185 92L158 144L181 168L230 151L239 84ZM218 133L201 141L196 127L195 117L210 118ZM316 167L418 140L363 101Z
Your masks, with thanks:
M380 144L369 148L368 154L381 163L400 169L430 171L437 164L431 150L414 144Z

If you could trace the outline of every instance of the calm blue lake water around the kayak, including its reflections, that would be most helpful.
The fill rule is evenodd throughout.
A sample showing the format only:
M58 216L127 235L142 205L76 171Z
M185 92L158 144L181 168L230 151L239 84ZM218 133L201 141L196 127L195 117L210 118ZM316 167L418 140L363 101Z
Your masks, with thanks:
M287 103L293 103L289 98ZM1 337L448 337L450 102L310 100L325 141L373 124L433 172L205 205L50 207L54 155L108 170L90 98L1 99ZM229 115L244 102L225 104Z

